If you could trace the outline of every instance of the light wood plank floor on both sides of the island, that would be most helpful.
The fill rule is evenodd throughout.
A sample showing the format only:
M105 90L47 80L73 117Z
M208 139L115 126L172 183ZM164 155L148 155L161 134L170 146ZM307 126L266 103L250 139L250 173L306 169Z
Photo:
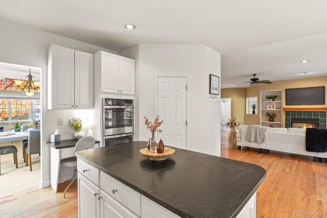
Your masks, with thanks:
M257 164L267 171L257 191L256 217L294 217L295 212L327 216L327 163L282 152L265 155L258 149L231 149L227 136L227 131L221 131L222 157ZM77 186L69 188L66 199L62 194L63 190L55 193L51 187L15 193L0 199L0 217L77 217Z

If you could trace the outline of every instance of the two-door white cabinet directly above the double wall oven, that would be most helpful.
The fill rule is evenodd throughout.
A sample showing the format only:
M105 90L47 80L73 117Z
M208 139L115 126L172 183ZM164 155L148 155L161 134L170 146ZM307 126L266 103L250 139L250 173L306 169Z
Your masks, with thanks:
M135 60L100 51L95 54L101 92L134 94Z

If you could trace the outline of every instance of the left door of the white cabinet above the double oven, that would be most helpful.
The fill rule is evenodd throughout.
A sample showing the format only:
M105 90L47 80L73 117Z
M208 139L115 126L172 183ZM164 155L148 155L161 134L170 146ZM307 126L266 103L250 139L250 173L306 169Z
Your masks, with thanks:
M119 55L101 52L101 91L120 93Z

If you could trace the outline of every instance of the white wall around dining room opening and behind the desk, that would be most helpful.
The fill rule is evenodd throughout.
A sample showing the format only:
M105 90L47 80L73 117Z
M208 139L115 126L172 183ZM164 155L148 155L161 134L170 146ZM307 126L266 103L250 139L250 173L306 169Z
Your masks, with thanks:
M61 139L73 138L74 131L67 126L68 117L79 116L86 119L93 110L47 110L46 109L46 68L48 47L51 44L68 47L94 54L100 50L116 52L69 39L28 26L0 20L0 62L40 67L41 72L41 181L40 187L50 186L50 148L46 141L58 129ZM64 126L58 126L58 118L64 118Z

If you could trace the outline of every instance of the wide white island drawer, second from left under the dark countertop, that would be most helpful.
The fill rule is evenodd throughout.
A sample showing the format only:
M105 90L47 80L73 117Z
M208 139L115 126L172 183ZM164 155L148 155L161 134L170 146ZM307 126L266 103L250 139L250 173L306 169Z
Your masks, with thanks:
M141 216L141 194L113 179L111 176L100 172L100 186L109 196Z

